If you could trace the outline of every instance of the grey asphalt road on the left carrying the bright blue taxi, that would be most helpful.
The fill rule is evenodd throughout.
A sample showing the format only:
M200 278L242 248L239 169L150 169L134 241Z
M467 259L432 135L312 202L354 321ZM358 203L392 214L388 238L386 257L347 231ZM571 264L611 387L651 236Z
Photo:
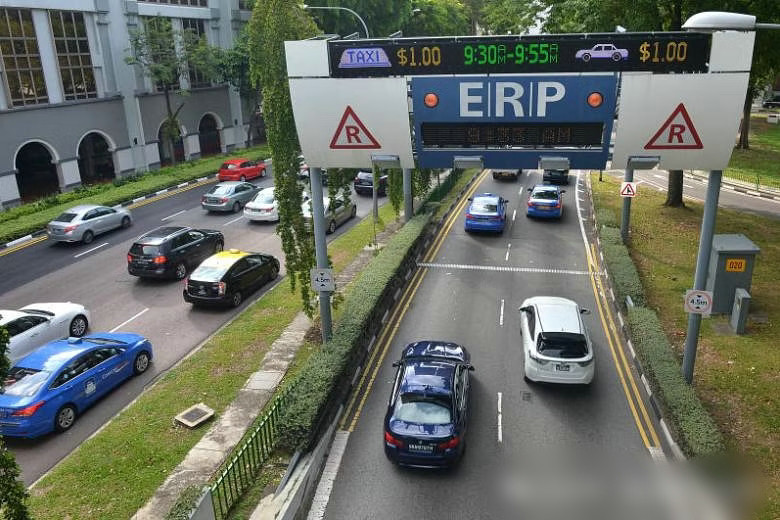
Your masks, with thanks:
M144 201L132 209L134 224L95 238L89 245L59 244L51 240L0 256L0 308L13 309L34 302L73 301L92 313L90 332L122 330L147 336L155 348L150 369L131 379L79 417L71 430L39 439L5 439L31 484L107 420L136 398L154 378L189 353L210 334L260 297L263 287L239 309L198 309L182 299L182 282L141 280L127 273L126 254L134 239L161 225L189 225L222 231L226 248L262 251L278 257L284 274L281 241L270 223L253 223L241 213L207 213L200 197L213 182ZM271 178L260 179L271 186ZM370 214L371 198L352 194L358 218L332 236ZM386 201L380 198L380 203Z

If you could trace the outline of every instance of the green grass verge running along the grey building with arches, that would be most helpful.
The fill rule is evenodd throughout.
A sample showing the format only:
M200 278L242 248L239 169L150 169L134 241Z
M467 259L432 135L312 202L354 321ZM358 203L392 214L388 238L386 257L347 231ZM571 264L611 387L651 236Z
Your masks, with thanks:
M0 243L43 229L54 217L76 204L113 206L154 193L185 181L216 173L225 159L249 157L264 159L270 155L267 145L242 148L227 155L197 159L173 167L161 168L144 175L116 179L113 183L85 186L75 191L47 197L0 212Z

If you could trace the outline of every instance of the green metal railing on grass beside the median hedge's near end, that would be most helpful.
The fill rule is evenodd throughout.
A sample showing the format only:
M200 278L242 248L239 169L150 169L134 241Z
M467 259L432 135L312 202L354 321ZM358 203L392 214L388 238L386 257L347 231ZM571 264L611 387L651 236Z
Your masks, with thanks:
M235 450L230 463L211 485L214 516L218 520L227 517L230 508L251 486L263 464L276 447L276 424L281 408L287 404L292 385L285 388L265 412L254 431Z

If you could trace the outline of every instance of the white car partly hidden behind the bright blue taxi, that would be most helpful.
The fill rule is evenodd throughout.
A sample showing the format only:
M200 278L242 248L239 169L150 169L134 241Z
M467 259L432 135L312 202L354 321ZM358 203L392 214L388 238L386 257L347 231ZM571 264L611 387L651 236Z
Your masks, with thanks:
M19 310L0 310L8 330L6 355L11 366L41 345L65 337L81 337L89 328L89 311L78 303L33 303Z

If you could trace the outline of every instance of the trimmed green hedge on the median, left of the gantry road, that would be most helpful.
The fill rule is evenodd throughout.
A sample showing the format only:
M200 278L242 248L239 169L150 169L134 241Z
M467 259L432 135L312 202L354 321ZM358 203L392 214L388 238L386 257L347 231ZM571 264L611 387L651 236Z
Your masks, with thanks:
M380 326L383 303L403 285L403 274L414 261L415 246L429 220L429 214L412 218L353 282L332 340L309 357L291 384L290 405L277 424L281 448L305 448L316 437L334 395L347 389L342 383L349 381L360 349Z

